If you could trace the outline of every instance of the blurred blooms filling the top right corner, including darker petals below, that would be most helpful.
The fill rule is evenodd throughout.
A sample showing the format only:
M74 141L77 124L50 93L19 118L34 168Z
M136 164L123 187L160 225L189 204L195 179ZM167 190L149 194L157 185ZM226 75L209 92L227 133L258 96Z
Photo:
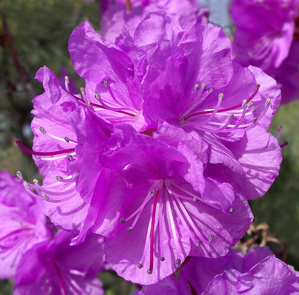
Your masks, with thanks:
M282 102L299 98L295 81L299 57L296 33L298 0L233 0L230 14L236 26L232 45L235 62L263 69L277 80Z

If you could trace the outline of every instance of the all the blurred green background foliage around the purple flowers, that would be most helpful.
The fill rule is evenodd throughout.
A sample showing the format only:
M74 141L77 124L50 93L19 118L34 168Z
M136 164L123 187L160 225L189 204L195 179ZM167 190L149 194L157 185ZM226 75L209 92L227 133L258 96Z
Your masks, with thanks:
M76 85L84 86L72 67L68 39L72 30L85 20L100 30L98 3L0 0L0 13L0 170L12 174L21 170L30 180L40 175L31 156L21 152L14 139L21 138L27 146L32 144L31 100L43 92L41 83L34 80L35 72L46 65L59 76L59 68L64 66ZM280 106L274 116L269 131L276 136L277 127L282 125L280 143L286 140L289 144L282 148L283 163L274 185L265 196L250 201L256 223L269 224L271 232L285 245L286 262L296 270L299 270L298 113L299 103L294 101ZM131 295L137 289L113 271L103 272L99 277L107 295ZM11 282L0 281L0 295L11 294L11 289Z

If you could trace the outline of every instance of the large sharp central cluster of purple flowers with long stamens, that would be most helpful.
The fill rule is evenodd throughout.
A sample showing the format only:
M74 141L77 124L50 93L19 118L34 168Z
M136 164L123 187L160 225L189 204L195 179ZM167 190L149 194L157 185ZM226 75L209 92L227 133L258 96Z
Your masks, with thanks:
M34 151L17 144L44 180L26 190L56 226L79 230L73 245L104 236L109 265L132 282L156 283L188 255L225 255L252 222L247 200L278 175L274 79L231 62L222 29L165 11L114 43L85 22L69 52L86 87L76 96L37 72Z

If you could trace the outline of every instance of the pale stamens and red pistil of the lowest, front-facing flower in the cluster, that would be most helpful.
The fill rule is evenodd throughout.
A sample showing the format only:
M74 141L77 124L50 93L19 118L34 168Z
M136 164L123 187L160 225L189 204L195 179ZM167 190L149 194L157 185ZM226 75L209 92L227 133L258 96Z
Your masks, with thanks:
M127 227L129 233L134 231L134 227L139 222L142 211L147 203L152 201L143 255L140 263L137 264L139 269L147 265L148 274L152 274L154 271L155 256L160 257L161 261L169 259L169 257L165 258L164 256L165 241L167 239L172 240L174 244L174 249L170 249L170 252L173 253L171 255L173 257L172 261L176 265L180 265L184 259L181 254L179 239L182 230L185 231L196 246L202 243L211 244L215 238L213 234L205 238L205 232L209 232L209 229L204 228L203 224L198 224L198 221L188 212L188 206L186 206L187 202L191 202L192 206L200 206L200 201L202 201L200 194L185 189L171 179L158 180L154 187L156 187L156 189L149 191L142 204L130 216L120 218L120 223L122 224L130 222L130 220L134 218L133 222L130 222L129 227ZM234 212L234 208L230 209L230 213L232 212ZM165 216L165 214L167 216ZM182 227L178 228L177 224L181 224ZM165 228L169 228L169 230L165 230ZM171 236L166 237L166 232L169 232ZM169 245L169 243L167 244ZM154 255L154 249L159 249L157 250L159 251L158 255ZM169 251L167 250L167 252Z

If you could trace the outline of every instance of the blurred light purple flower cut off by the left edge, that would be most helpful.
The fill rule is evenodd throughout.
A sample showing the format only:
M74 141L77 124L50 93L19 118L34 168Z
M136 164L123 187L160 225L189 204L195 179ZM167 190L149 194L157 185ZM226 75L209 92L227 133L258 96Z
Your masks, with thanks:
M51 237L42 201L30 196L22 181L6 171L0 172L0 224L0 278L3 279L15 275L27 249Z

